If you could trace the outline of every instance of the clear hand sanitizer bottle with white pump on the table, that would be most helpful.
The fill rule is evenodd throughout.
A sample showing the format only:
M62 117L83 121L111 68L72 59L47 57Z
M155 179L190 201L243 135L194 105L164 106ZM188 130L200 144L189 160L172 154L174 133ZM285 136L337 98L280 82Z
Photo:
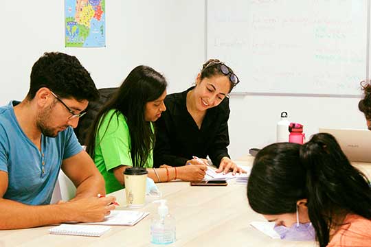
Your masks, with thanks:
M171 244L175 242L175 219L170 215L166 200L156 200L160 203L158 214L150 224L150 236L153 244Z

